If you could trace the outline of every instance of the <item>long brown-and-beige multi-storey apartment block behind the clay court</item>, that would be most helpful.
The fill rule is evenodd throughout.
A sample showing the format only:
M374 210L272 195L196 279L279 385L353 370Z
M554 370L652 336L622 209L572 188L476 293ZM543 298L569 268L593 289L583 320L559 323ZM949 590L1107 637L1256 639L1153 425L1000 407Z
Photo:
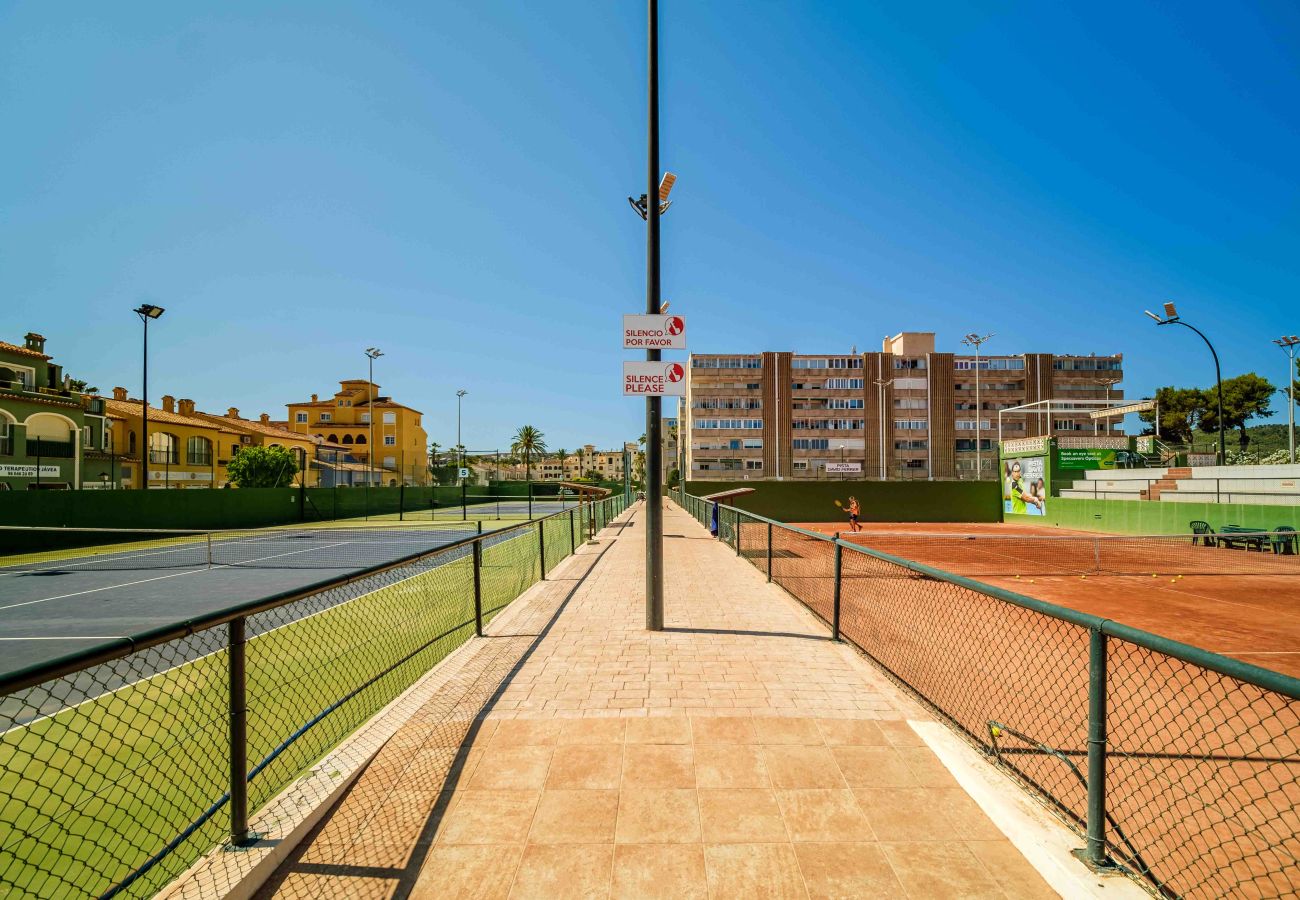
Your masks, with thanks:
M1024 403L1123 398L1123 356L939 352L932 332L880 352L692 354L682 408L688 477L819 479L858 463L871 479L994 477L997 414ZM1005 438L1105 432L1086 410L1002 416Z

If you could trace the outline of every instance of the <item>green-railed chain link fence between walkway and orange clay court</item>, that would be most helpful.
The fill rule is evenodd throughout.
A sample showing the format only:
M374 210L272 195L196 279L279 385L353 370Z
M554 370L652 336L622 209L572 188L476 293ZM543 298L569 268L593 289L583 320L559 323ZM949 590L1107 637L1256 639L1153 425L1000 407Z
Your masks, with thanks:
M1054 810L1091 864L1158 896L1300 891L1300 680L676 498Z

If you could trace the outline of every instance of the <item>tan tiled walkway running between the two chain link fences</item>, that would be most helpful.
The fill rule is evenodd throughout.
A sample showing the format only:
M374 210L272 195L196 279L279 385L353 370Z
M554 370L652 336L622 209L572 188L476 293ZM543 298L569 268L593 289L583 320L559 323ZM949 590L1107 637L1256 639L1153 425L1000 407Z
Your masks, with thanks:
M646 632L644 524L450 657L259 896L1057 896L928 717L675 506Z

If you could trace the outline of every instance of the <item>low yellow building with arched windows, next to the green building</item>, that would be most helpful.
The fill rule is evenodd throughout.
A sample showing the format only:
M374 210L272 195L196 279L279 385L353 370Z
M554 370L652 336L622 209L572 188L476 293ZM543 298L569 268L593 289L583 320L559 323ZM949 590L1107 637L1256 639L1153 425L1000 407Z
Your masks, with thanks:
M143 450L143 403L130 399L126 388L113 388L104 402L112 423L112 446L124 457L122 486L139 488ZM230 451L240 432L194 415L194 401L162 398L162 408L150 407L150 447L146 466L150 488L221 488L226 484Z

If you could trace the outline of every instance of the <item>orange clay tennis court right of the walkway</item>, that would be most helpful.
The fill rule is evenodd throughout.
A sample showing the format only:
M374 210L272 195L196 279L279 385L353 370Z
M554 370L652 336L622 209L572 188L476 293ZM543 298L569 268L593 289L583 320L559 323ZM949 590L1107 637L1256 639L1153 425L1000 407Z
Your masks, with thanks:
M829 622L833 545L771 533L774 581ZM755 566L767 541L766 523L740 525ZM854 542L1275 670L1300 659L1296 555L966 523ZM845 551L841 631L1082 828L1087 627ZM1118 637L1106 672L1112 856L1165 896L1300 892L1300 701Z

